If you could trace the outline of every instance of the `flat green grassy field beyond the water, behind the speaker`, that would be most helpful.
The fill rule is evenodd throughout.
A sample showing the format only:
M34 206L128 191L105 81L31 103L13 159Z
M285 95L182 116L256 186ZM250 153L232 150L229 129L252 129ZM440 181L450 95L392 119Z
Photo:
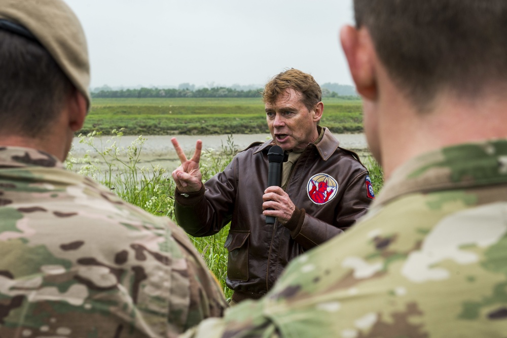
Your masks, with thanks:
M321 124L332 132L363 131L360 100L324 99ZM267 133L257 98L95 98L81 130L127 135Z

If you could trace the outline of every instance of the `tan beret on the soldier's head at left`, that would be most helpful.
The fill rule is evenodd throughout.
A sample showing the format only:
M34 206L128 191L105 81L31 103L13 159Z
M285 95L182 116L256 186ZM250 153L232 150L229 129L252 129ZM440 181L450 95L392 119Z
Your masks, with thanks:
M53 56L90 107L90 63L85 32L61 0L0 0L0 18L28 29Z

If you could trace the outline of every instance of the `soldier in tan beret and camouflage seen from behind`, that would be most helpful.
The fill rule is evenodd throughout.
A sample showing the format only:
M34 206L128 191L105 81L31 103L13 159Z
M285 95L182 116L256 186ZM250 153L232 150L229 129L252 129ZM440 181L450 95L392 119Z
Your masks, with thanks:
M168 219L62 167L90 97L60 0L0 0L0 336L167 337L225 299Z

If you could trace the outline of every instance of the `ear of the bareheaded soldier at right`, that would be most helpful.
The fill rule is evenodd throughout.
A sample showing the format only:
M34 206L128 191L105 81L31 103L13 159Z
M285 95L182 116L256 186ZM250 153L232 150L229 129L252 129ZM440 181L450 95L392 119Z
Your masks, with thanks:
M347 58L350 74L357 92L370 100L377 97L375 77L375 48L366 28L344 26L340 31L340 41Z

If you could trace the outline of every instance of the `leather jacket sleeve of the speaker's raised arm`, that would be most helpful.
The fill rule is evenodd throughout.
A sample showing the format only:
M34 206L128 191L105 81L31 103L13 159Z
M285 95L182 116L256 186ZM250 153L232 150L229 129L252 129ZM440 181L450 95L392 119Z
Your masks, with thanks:
M178 189L174 194L176 221L187 233L209 236L227 225L234 211L237 191L237 159L233 159L225 170L216 174L200 191L182 195Z

